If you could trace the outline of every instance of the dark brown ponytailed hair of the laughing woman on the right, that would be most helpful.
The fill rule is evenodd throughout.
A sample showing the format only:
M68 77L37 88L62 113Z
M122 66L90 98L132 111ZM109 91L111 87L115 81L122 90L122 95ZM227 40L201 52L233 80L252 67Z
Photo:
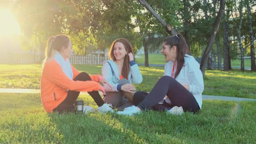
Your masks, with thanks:
M177 59L176 59L177 70L174 76L174 79L176 79L184 65L184 56L187 52L189 52L187 43L181 34L177 34L175 36L168 36L164 39L163 43L165 43L166 45L169 45L170 49L173 46L177 47L177 51L176 51L177 52Z

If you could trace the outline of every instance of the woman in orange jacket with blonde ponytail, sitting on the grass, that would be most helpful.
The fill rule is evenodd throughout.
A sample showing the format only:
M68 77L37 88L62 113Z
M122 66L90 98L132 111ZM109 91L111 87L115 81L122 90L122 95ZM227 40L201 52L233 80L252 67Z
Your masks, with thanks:
M72 51L68 36L57 35L48 39L40 82L44 109L49 113L74 111L79 93L88 92L98 105L99 112L112 111L112 105L105 104L98 93L100 90L105 94L105 88L98 82L109 83L101 75L89 76L76 70L69 62Z

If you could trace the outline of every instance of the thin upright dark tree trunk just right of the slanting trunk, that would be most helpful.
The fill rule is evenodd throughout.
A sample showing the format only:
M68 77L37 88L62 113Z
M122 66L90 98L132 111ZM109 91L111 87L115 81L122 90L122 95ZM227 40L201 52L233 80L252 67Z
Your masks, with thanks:
M224 32L224 36L223 36L223 70L224 71L228 71L229 70L229 44L228 44L228 33L227 33L227 28L226 28L226 20L223 20L223 32Z

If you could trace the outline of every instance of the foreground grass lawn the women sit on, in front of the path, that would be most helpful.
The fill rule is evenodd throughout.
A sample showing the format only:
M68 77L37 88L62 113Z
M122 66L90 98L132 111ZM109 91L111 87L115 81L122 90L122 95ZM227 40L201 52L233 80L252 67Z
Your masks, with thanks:
M85 105L97 108L89 95ZM47 114L39 94L0 94L0 143L255 143L256 101L203 101L197 114Z

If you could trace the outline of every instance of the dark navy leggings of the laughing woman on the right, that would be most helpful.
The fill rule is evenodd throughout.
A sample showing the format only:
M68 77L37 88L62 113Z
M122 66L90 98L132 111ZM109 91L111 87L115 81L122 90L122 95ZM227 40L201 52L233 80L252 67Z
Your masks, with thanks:
M163 105L158 104L165 95L171 100L171 105L165 101ZM141 110L149 108L164 110L174 106L182 106L184 111L195 113L200 109L194 95L170 76L163 76L159 79L150 93L136 92L133 101L138 104L137 107Z

